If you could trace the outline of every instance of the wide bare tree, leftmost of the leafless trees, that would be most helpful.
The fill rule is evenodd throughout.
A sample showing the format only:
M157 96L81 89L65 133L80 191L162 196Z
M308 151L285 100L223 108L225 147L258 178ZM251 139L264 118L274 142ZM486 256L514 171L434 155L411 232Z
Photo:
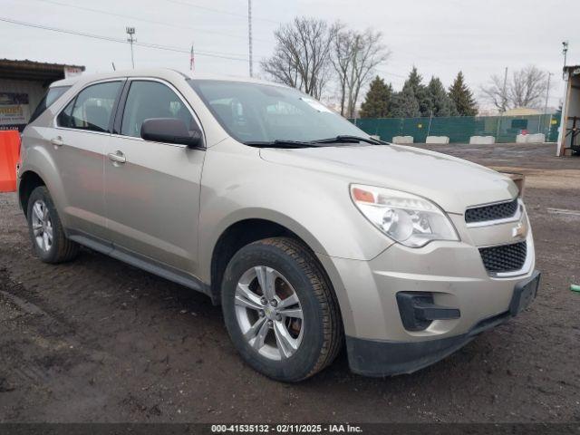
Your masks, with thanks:
M296 17L275 31L275 52L262 69L275 82L300 89L319 99L331 69L331 46L336 27L323 20Z

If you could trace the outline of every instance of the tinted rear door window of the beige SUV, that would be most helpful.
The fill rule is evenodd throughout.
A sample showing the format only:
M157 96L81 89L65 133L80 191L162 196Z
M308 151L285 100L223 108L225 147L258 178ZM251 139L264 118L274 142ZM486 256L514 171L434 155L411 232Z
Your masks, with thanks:
M58 117L58 125L72 129L109 131L112 106L121 82L93 84L80 92Z

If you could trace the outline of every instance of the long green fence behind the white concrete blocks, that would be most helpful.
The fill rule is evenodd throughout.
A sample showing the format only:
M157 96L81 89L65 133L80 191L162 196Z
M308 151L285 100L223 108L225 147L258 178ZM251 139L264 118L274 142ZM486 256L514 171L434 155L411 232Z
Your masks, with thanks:
M544 133L546 141L558 137L560 114L527 116L454 116L438 118L362 118L353 121L362 131L391 141L412 136L416 143L427 136L448 136L450 143L469 143L471 136L494 136L498 143L515 142L518 134Z

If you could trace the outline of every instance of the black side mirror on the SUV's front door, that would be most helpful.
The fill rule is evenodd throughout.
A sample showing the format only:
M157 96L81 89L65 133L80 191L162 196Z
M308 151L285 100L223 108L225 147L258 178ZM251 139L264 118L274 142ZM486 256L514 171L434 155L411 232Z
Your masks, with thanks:
M141 124L141 138L155 142L203 147L201 131L189 132L185 122L177 118L150 118Z

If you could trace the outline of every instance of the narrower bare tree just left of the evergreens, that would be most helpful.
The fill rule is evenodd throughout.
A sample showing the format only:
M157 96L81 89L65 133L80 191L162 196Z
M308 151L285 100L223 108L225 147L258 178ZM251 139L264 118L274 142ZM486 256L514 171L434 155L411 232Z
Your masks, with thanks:
M338 76L341 114L353 118L362 87L372 79L374 68L387 60L390 52L382 43L382 33L346 30L336 25L333 68Z

